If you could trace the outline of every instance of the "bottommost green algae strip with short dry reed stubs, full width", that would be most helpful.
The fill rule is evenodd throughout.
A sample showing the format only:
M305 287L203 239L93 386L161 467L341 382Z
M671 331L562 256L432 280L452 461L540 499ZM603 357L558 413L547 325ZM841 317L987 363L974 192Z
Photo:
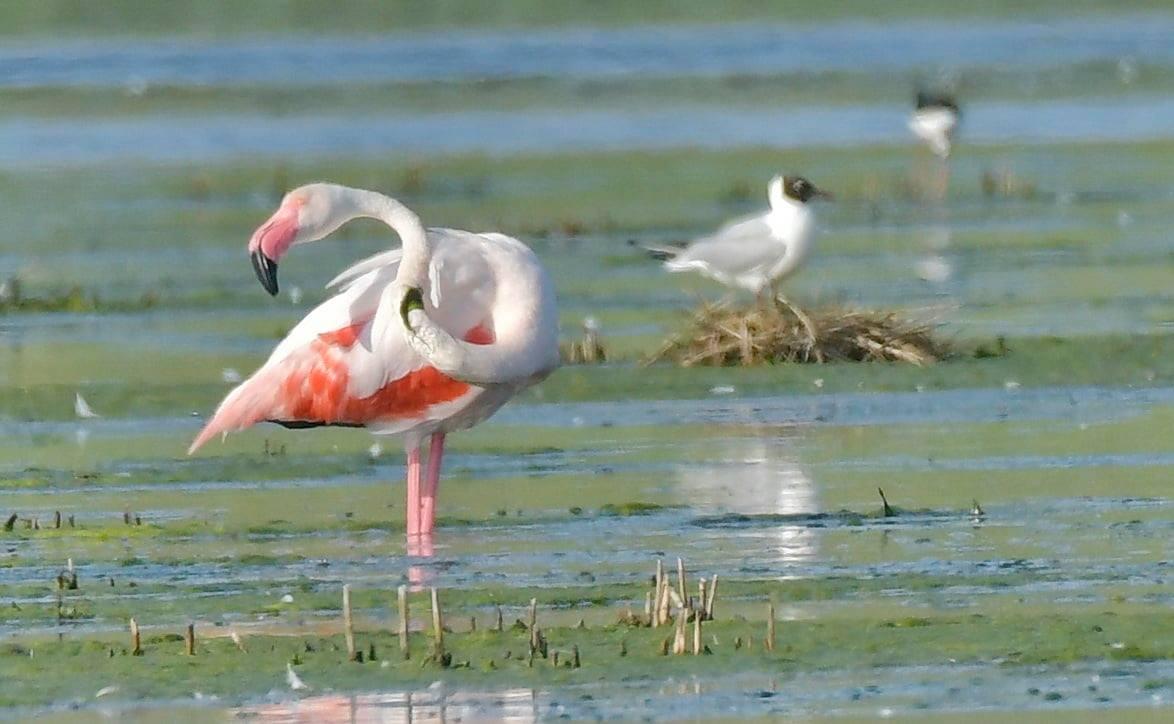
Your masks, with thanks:
M704 627L709 655L663 656L661 641L670 628L632 627L598 622L585 628L539 616L552 658L528 664L529 634L525 625L498 632L485 625L471 632L467 618L443 597L447 621L447 667L430 661L430 636L412 634L412 658L404 661L398 643L382 624L359 620L356 644L364 663L346 661L337 624L319 623L281 635L238 629L247 651L225 635L227 628L197 627L195 656L183 655L182 636L167 625L148 624L143 655L130 656L124 635L63 636L60 640L22 638L0 652L6 705L45 705L86 698L108 685L122 688L128 698L173 698L202 691L238 701L284 686L286 664L316 689L357 691L429 684L438 678L456 686L567 685L608 683L633 677L669 678L702 674L717 676L744 671L799 674L824 669L876 670L878 667L989 663L1004 665L1064 665L1073 661L1112 661L1114 637L1145 635L1162 658L1174 657L1174 618L1168 611L1106 614L1072 609L1062 616L1032 611L984 615L927 616L916 625L884 625L866 611L850 617L784 621L777 625L774 651L762 647L761 618L718 617ZM423 597L418 598L423 603ZM614 609L612 611L614 614ZM420 618L424 613L420 613ZM614 620L613 620L614 621ZM735 645L741 638L743 645ZM572 668L572 647L581 668ZM621 648L625 651L621 655ZM369 655L375 652L375 658ZM32 655L31 655L32 654ZM52 675L50 675L52 672Z

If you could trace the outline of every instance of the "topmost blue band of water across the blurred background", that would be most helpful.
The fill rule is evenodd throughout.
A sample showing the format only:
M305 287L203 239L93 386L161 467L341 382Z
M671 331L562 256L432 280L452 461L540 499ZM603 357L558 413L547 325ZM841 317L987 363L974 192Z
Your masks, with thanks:
M1166 14L1038 22L903 21L645 26L389 38L54 41L0 50L0 87L316 84L549 75L754 75L869 68L918 72L1091 60L1174 62Z

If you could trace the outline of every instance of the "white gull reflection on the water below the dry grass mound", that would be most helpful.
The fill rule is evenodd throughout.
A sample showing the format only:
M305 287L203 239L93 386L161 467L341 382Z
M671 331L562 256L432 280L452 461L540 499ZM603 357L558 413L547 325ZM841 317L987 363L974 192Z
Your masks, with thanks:
M787 438L727 439L721 460L681 466L676 479L682 500L703 514L803 516L819 512L815 482ZM742 535L767 535L769 552L763 553L770 562L803 563L818 555L819 528L770 517L763 523Z

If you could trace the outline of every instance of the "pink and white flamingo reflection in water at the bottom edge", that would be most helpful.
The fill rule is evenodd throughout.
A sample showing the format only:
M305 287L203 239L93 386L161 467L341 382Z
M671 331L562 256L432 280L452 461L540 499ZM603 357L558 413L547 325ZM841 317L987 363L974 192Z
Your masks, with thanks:
M540 698L544 702L540 704ZM539 709L549 708L545 695L533 689L501 691L446 691L433 684L421 691L394 693L330 693L288 702L242 706L235 718L266 724L353 722L537 722ZM547 712L551 713L551 712Z

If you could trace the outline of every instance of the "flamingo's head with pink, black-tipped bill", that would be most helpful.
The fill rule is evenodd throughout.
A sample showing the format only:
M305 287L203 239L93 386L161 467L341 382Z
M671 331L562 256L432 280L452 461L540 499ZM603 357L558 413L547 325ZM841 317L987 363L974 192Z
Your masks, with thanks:
M282 205L269 221L252 234L249 258L265 291L277 296L277 262L290 246L318 241L346 221L345 191L345 187L331 183L294 189L282 198Z

